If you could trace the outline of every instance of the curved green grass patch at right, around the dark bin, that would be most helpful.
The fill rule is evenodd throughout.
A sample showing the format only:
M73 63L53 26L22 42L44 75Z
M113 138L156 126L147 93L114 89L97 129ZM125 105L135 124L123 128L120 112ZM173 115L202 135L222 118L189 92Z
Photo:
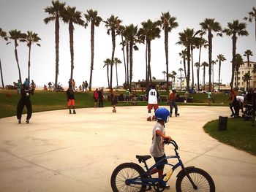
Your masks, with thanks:
M242 118L228 118L227 130L218 130L219 120L212 120L203 127L211 137L219 142L245 150L256 155L256 126L252 121L244 121Z

